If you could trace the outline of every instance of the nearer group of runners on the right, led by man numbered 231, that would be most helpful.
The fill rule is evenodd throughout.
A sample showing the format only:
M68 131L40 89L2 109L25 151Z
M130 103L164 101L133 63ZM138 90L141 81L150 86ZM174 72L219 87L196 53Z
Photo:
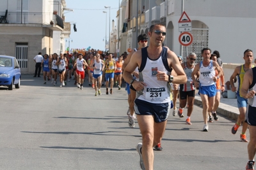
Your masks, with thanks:
M221 93L225 91L225 76L218 51L212 53L210 48L203 48L201 51L202 61L196 64L196 60L198 60L196 53L191 52L182 63L182 56L177 56L168 47L162 46L165 36L164 25L152 25L147 35L138 36L138 48L134 48L123 65L124 80L130 89L127 91L129 125L134 127L134 120L137 118L142 135L142 143L138 143L136 146L140 155L141 169L153 169L153 150L163 150L161 139L172 107L173 116L178 113L180 118L184 117L183 110L187 107L186 124L191 125L195 94L198 92L203 105L203 131L208 132L208 123L219 120L216 110L220 103ZM149 45L147 45L148 38L150 39ZM250 125L247 170L254 167L256 150L256 117L255 114L253 115L256 110L256 100L254 99L256 81L253 80L256 69L251 69L253 67L252 50L246 50L243 59L244 64L237 66L230 77L230 88L237 92L237 105L240 112L231 132L236 134L243 122L240 139L248 142L245 131L248 124ZM247 71L248 73L246 73ZM248 78L245 79L244 76L246 77L247 74ZM238 89L234 85L236 78L238 79ZM177 96L180 101L178 111L175 98ZM250 98L250 103L246 109L247 98Z

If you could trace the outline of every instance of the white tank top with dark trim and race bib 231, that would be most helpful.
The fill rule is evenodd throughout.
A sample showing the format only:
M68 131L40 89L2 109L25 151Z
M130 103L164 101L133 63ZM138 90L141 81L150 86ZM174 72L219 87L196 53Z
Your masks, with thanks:
M162 57L157 60L150 60L147 57L146 65L143 71L140 72L140 81L146 83L147 86L144 87L143 94L138 99L149 103L170 103L170 83L157 80L157 71L168 74Z

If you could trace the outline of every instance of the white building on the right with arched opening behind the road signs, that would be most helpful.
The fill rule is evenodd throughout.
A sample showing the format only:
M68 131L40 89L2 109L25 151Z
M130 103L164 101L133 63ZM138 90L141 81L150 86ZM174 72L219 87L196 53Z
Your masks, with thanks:
M144 6L144 9L143 9ZM137 36L147 34L150 25L166 25L163 45L177 55L195 52L201 60L204 47L218 50L226 63L243 63L246 49L256 50L256 1L240 0L123 0L120 4L120 53L137 46ZM179 43L179 19L186 11L191 20L193 42L185 47ZM118 16L117 16L118 17ZM138 23L138 25L137 25ZM124 25L127 28L124 29ZM118 38L117 38L118 39Z

